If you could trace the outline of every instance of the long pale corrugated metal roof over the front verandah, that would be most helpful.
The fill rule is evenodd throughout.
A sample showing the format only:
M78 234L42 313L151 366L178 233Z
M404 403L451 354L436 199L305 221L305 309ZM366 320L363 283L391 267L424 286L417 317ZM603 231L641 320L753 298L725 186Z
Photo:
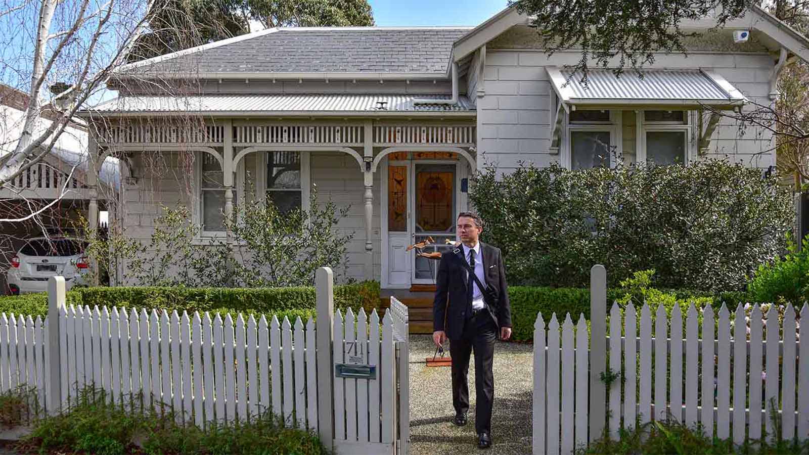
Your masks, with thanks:
M228 115L251 114L345 114L354 113L474 113L474 105L466 96L458 104L413 104L416 99L449 100L444 95L204 95L204 96L121 96L88 108L84 116L95 113L202 113Z

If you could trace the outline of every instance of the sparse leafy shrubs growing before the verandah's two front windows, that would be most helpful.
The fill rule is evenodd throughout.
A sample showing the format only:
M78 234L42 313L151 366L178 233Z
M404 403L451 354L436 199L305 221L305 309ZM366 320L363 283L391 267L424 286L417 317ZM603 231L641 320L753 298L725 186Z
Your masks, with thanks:
M234 206L233 219L224 219L230 232L210 238L205 245L193 242L200 235L185 206L163 206L149 238L131 236L126 226L113 225L104 235L86 232L91 276L113 278L115 283L137 286L186 287L291 287L311 286L315 272L330 266L341 282L354 232L337 229L349 213L331 199L310 194L309 210L279 211L266 203ZM345 279L344 279L345 278ZM104 283L99 281L98 283Z

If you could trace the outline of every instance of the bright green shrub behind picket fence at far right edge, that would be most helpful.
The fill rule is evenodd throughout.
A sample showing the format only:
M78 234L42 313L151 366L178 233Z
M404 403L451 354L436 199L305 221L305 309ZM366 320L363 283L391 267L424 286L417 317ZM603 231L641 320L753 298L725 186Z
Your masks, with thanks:
M749 294L761 302L800 304L809 296L809 239L803 248L788 237L787 254L761 264L748 284Z

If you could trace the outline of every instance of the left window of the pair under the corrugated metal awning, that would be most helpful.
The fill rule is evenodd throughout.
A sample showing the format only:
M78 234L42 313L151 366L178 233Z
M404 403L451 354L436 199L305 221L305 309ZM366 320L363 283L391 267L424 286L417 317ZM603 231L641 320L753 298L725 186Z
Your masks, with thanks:
M611 111L571 111L565 134L566 166L570 169L589 169L611 165L610 155L618 138L620 113Z

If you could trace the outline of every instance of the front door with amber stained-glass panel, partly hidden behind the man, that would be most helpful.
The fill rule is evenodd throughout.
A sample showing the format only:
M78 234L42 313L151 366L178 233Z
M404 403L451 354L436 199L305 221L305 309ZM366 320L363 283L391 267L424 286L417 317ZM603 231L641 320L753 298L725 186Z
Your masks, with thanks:
M458 207L456 189L457 164L413 163L413 243L432 237L424 253L451 249L455 242L455 214ZM435 283L438 261L413 254L415 284Z

